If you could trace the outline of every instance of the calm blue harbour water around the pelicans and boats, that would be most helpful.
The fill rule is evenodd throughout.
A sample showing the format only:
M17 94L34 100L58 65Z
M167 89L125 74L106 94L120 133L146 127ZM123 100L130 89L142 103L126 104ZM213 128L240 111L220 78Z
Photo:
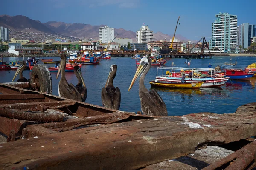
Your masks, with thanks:
M45 57L44 59L51 59L54 61L60 60L59 57ZM8 62L14 58L5 58ZM22 60L22 57L16 57L16 60ZM250 65L256 62L256 57L232 57L232 62L237 60L237 65ZM166 63L166 66L171 66L172 62L177 67L185 67L186 59L170 59ZM212 59L192 59L192 68L208 68L209 62L212 64L212 68L217 65L222 65L224 62L230 62L230 57L212 57ZM137 69L135 60L130 57L111 57L110 60L102 60L99 65L83 65L82 74L84 82L87 86L87 103L100 105L101 102L101 90L105 86L110 66L116 64L117 74L114 79L114 85L121 90L121 105L120 110L137 112L140 111L140 98L139 98L139 81L134 83L131 91L128 92L129 85L134 77ZM49 64L53 66L54 64ZM157 72L157 67L151 67L145 78L145 86L150 89L150 80L154 80ZM0 71L0 82L11 82L15 74L15 71ZM53 94L58 96L58 82L56 79L57 73L52 72L53 82ZM27 79L30 76L30 71L23 71L23 76ZM17 81L18 77L15 79ZM69 83L77 84L77 79L74 73L66 73L66 79ZM192 89L166 89L155 88L156 91L163 98L166 103L169 116L172 115L184 115L189 113L198 112L212 112L212 113L233 113L236 108L255 102L256 90L255 82L256 78L252 78L250 81L232 81L234 86L227 82L226 85L221 88L204 88L198 90Z

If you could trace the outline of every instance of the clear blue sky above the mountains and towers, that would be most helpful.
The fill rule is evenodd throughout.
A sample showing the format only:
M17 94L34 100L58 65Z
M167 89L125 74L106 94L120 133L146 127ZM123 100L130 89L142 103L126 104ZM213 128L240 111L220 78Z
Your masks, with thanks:
M176 34L189 40L211 37L211 24L218 12L238 16L238 24L256 24L256 0L3 0L0 14L24 15L42 23L105 24L136 31L143 23L154 32Z

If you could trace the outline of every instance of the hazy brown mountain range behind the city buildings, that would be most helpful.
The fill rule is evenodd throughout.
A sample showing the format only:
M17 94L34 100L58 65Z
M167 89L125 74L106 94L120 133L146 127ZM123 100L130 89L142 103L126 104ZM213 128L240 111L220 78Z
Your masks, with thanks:
M22 15L17 15L14 17L10 17L8 15L0 15L0 26L11 28L17 31L52 33L70 37L93 38L99 40L99 27L105 25L92 26L90 24L71 24L57 21L41 23L40 21L35 21ZM119 34L117 36L118 38L131 38L134 42L136 42L136 33L133 31L127 31L123 28L115 28L115 35L117 34ZM185 37L179 34L177 34L175 37L180 40L187 40ZM169 41L172 39L172 35L163 34L161 32L154 33L154 40L164 40L165 38L167 41Z

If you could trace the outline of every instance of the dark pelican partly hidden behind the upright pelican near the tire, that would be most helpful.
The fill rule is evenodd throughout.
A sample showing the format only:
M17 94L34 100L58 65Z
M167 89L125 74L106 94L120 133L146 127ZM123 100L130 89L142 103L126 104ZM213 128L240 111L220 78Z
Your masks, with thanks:
M76 74L76 77L78 79L78 83L76 85L76 90L81 94L82 102L85 102L87 97L87 89L84 83L84 79L81 73L81 68L79 66L74 67L74 73Z

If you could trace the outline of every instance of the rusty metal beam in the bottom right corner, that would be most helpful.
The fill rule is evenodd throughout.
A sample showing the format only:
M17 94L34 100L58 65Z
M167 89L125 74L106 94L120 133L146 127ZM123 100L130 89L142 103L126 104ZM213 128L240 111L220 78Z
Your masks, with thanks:
M244 170L254 159L256 153L256 141L247 144L236 152L230 154L229 156L210 164L208 167L202 170Z

